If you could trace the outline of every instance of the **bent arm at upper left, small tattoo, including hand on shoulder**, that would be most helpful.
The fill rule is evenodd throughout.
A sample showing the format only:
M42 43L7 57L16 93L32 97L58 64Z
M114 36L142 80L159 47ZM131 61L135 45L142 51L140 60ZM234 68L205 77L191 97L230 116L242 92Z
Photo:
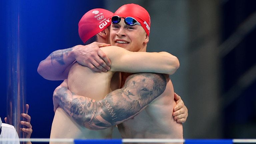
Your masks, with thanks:
M102 46L109 46L109 44L94 42L85 46L77 45L56 50L40 62L37 72L48 80L64 80L74 61L97 72L107 71L110 69L110 60L99 49Z

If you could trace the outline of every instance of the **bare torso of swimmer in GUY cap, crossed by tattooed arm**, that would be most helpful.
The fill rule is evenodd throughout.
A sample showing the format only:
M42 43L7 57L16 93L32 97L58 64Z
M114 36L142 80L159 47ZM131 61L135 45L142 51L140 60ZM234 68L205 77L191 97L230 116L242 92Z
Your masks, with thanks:
M74 63L68 75L69 89L81 96L101 100L112 89L119 87L119 75L115 72L93 72L88 67ZM114 75L113 79L112 76ZM115 81L115 82L112 82ZM111 84L110 84L111 83ZM77 124L72 117L60 107L57 108L52 123L50 138L93 138L112 137L112 127L104 130L90 130Z

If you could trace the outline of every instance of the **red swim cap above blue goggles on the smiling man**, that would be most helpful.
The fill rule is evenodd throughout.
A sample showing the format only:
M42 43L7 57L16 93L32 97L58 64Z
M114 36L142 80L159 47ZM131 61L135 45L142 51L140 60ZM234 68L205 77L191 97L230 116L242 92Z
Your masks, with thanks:
M140 5L137 4L126 4L121 6L113 16L119 17L133 17L135 18L143 27L147 35L150 32L150 16L148 11Z

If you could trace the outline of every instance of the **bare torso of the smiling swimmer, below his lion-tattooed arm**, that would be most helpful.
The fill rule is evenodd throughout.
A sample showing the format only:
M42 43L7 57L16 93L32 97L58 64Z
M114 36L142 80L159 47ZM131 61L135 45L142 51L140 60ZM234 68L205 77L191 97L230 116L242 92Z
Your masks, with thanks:
M123 138L183 138L183 127L172 116L174 90L167 78L165 91L134 118L118 125Z

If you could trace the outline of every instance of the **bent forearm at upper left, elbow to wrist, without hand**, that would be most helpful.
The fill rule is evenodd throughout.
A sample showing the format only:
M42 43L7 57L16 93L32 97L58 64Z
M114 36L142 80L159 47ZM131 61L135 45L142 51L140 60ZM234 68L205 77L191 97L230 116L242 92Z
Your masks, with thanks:
M64 80L72 63L76 60L72 52L74 47L52 52L45 60L41 61L37 72L48 80Z

